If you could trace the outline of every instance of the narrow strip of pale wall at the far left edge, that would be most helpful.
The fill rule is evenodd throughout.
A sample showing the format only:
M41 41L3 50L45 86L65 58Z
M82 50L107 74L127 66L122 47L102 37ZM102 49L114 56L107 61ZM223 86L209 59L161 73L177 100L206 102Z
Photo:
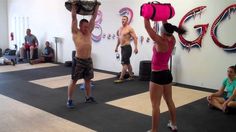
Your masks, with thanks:
M0 0L0 48L8 48L7 0Z

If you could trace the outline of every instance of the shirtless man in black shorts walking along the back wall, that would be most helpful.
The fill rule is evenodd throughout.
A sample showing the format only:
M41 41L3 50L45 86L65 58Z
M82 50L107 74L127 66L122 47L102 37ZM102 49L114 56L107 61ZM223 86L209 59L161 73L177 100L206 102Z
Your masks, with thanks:
M138 41L137 36L134 32L134 29L128 25L128 17L122 17L122 27L118 30L118 42L116 45L115 52L118 52L119 45L121 46L121 64L122 64L122 71L121 75L118 80L115 80L115 83L121 83L124 81L124 75L128 70L130 77L128 80L133 80L133 70L130 64L130 57L132 54L132 47L130 45L131 38L134 40L134 53L138 53Z

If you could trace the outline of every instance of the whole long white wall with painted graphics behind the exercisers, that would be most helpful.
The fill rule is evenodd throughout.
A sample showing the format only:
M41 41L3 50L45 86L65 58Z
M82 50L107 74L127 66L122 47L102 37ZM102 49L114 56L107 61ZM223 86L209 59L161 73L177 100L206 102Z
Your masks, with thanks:
M41 45L49 40L54 42L53 37L61 37L59 44L59 61L71 60L71 51L74 45L71 39L70 12L64 7L65 0L8 0L9 23L14 17L28 17L29 27L35 34ZM123 7L129 7L134 12L134 18L131 26L135 29L138 37L147 38L143 26L143 19L139 16L140 5L148 2L147 0L102 0L100 10L103 12L103 21L101 23L104 34L115 34L121 26L119 10ZM229 5L235 4L235 0L160 0L160 2L171 2L175 7L176 15L170 20L171 23L178 25L181 18L190 10L198 6L207 6L201 17L196 17L189 21L187 25L188 35L186 39L191 40L197 37L193 32L193 26L196 24L209 23L206 36L203 39L202 48L194 48L188 52L179 44L178 37L176 44L176 54L173 57L173 76L178 83L202 86L216 89L221 85L221 81L226 76L228 66L236 63L236 54L227 53L218 48L211 39L210 28L214 20ZM81 16L78 16L81 18ZM87 17L86 17L87 18ZM219 27L219 40L223 43L235 43L236 15L231 15L231 19L221 23ZM14 25L14 24L13 24ZM9 24L9 32L13 31L12 24ZM230 32L229 32L230 31ZM94 32L98 32L96 29ZM121 70L120 62L115 59L114 49L116 40L102 39L93 44L92 57L94 67L97 69L118 72ZM150 60L152 55L152 42L144 42L139 45L139 54L132 56L131 63L134 72L138 75L139 62L141 60Z

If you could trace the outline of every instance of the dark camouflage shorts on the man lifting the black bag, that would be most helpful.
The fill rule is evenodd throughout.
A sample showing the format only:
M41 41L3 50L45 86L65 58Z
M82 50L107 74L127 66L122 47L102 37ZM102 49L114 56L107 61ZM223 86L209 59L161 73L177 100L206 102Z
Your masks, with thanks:
M75 58L75 68L72 70L72 80L91 80L94 77L93 73L93 61L91 58L89 59L79 59Z

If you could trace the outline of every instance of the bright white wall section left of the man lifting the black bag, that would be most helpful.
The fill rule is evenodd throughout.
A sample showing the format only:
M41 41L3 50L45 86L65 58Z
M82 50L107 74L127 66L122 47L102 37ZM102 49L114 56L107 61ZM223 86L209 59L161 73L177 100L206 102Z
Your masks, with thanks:
M15 31L15 18L27 18L26 27L31 28L41 47L49 40L55 48L54 37L61 37L63 40L58 46L58 61L70 59L71 50L74 49L70 34L70 14L65 10L63 0L8 0L8 4L9 32ZM20 40L17 41L18 45L23 42L22 38L16 38Z

